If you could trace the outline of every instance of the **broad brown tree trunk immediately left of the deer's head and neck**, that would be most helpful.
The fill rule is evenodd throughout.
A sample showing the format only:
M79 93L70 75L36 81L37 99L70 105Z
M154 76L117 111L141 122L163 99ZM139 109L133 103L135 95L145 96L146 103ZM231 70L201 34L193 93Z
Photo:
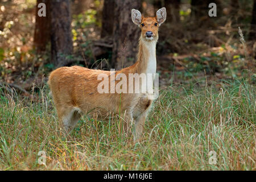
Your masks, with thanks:
M112 63L116 69L128 67L137 60L141 30L131 20L131 9L141 10L141 1L115 0Z

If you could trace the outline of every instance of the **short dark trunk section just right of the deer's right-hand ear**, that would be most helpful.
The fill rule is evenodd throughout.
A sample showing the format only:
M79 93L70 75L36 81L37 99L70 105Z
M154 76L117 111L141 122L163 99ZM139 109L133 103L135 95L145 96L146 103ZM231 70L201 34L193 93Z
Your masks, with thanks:
M164 0L167 21L177 23L180 21L180 0Z

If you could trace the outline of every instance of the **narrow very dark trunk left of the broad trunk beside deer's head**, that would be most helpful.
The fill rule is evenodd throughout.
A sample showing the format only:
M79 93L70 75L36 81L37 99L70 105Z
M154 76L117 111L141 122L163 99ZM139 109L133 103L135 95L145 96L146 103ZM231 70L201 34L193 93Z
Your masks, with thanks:
M104 0L102 10L101 38L113 35L114 4L115 3L113 0Z

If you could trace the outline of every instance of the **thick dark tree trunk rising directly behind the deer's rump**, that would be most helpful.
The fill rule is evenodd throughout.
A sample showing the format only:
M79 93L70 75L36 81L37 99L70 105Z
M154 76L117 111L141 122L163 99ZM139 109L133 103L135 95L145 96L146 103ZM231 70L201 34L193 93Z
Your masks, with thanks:
M72 55L71 12L69 0L51 0L51 59L57 67Z

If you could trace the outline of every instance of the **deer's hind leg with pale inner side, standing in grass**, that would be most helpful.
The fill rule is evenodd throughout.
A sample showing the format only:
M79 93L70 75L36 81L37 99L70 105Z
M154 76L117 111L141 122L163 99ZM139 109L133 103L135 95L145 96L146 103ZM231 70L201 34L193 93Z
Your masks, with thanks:
M69 134L81 118L80 110L76 107L59 107L57 108L59 120L62 122L65 135Z

